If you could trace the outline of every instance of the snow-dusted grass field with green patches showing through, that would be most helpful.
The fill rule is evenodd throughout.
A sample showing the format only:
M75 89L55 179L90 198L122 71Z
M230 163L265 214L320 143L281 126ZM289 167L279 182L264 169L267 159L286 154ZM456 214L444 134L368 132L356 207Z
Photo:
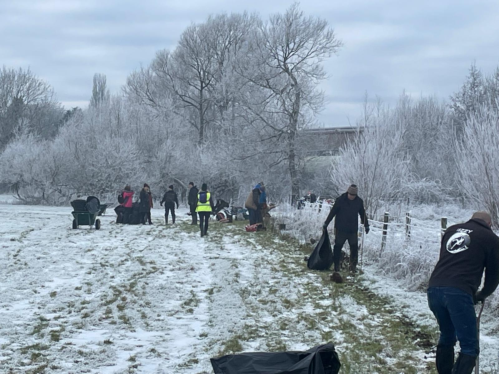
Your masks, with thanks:
M71 230L70 207L0 212L2 373L213 373L211 357L328 341L342 374L435 373L420 293L375 275L333 284L297 241L215 221L201 238L182 209L168 227L160 209L137 226L110 210L98 231ZM497 373L488 339L483 373Z

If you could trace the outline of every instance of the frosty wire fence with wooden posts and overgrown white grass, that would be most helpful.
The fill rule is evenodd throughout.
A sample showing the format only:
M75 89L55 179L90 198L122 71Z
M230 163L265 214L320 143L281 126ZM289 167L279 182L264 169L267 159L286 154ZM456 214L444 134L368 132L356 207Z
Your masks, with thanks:
M325 202L304 203L300 209L281 208L276 221L286 224L286 231L302 242L320 236L331 205ZM454 218L451 218L453 220ZM450 225L447 217L431 219L405 214L368 214L370 231L359 224L359 260L374 264L380 272L406 283L409 289L423 289L440 253L443 231ZM331 233L334 222L329 225ZM345 245L346 251L349 250Z

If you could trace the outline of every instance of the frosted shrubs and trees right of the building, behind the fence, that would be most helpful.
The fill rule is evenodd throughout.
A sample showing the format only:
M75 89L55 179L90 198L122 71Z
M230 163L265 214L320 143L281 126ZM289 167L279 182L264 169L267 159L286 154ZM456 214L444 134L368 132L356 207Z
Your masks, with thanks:
M341 148L331 181L357 181L372 211L394 197L464 198L499 223L498 104L499 67L484 76L475 64L450 103L404 93L390 109L366 98L364 131Z

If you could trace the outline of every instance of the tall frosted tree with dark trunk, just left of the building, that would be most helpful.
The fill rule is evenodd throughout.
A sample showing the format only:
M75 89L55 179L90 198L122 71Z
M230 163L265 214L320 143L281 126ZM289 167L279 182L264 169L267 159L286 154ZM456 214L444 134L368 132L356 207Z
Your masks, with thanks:
M246 118L274 164L286 166L292 200L299 196L303 161L297 154L298 133L323 107L317 86L327 74L321 62L341 45L326 20L305 16L294 3L284 14L258 24L238 68L247 80L242 100Z

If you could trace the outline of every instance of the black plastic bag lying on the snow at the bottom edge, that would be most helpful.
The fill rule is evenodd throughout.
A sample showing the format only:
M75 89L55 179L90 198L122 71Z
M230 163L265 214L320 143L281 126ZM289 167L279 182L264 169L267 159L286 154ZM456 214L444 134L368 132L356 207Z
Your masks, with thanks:
M332 344L306 352L251 352L211 359L215 374L338 374L340 362Z

